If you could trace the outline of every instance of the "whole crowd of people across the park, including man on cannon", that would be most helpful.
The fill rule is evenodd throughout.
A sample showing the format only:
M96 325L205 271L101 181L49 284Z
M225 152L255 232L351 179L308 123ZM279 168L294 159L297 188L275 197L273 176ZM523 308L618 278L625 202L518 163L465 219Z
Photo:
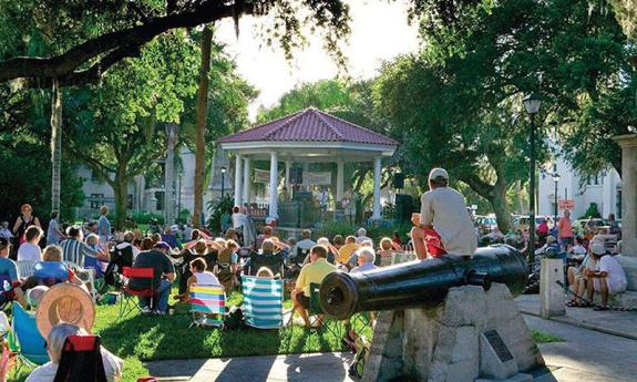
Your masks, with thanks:
M320 237L316 241L309 229L301 231L298 241L280 239L271 226L265 226L261 234L256 235L239 206L234 207L232 216L226 218L224 231L217 237L191 226L161 228L157 224L150 234L137 229L113 231L107 207L101 209L97 221L71 226L60 225L58 214L53 211L44 233L39 219L32 215L31 206L23 205L13 229L9 230L7 224L0 229L0 276L4 275L10 283L10 288L4 288L6 295L24 307L37 306L34 299L29 301L29 296L42 296L47 288L60 282L100 293L121 285L131 290L152 287L154 296L140 297L140 310L158 316L168 313L175 303L188 301L194 285L222 286L229 292L239 287L242 275L281 278L294 285L292 317L298 313L305 326L310 327L310 286L320 285L330 272L356 273L391 265L393 255L403 252L404 241L409 241L421 260L446 254L473 256L477 240L464 197L449 187L449 175L442 168L430 173L429 186L430 190L421 198L421 211L412 216L413 228L408 240L395 231L392 237L380 238L377 242L362 227L351 235ZM626 276L614 256L616 251L607 250L604 237L577 236L569 211L564 213L553 233L545 225L537 227L537 233L538 256L549 251L566 252L576 261L568 269L568 282L576 293L569 306L589 306L594 293L599 292L602 306L596 309L605 310L609 296L626 290ZM523 233L514 235L524 239ZM47 242L43 249L42 240ZM12 244L17 247L13 251ZM33 262L33 275L21 277L10 257L19 262ZM124 267L151 268L153 277L126 279L122 276ZM94 270L94 285L78 277L76 272L83 269ZM175 282L178 282L178 292L171 301ZM30 293L30 290L38 290L38 293ZM315 326L322 326L321 316ZM65 330L76 332L76 328ZM52 332L51 335L56 334ZM353 343L356 338L356 332L350 330L343 341ZM58 357L53 348L50 354L54 363ZM48 381L47 378L31 380Z

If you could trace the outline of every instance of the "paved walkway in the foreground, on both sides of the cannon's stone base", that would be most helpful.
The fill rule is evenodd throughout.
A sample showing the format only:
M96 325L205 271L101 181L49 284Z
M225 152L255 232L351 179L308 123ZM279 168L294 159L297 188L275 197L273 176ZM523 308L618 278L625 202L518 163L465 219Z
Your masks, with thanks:
M527 312L524 319L530 328L564 339L538 345L549 372L538 373L535 381L637 381L636 312L568 308L566 317L544 320L536 317L537 296L523 296L517 302ZM162 381L349 382L350 360L349 353L316 353L161 361L147 366Z

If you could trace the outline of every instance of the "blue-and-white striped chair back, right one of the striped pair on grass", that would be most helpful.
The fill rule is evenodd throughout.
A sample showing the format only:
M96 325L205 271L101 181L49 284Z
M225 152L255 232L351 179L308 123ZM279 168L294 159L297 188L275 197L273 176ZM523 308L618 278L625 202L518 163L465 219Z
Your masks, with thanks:
M277 329L284 323L284 283L242 276L246 324L257 329Z

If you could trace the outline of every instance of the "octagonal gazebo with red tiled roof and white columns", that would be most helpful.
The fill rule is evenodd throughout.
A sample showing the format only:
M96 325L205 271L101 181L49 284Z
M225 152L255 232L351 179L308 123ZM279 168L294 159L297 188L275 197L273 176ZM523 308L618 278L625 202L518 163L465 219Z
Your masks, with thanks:
M222 137L220 148L235 154L235 204L250 195L250 161L270 161L268 216L278 218L279 162L285 163L285 185L290 189L294 163L336 163L336 200L343 198L343 165L373 162L372 219L380 219L382 157L393 155L398 142L315 107Z

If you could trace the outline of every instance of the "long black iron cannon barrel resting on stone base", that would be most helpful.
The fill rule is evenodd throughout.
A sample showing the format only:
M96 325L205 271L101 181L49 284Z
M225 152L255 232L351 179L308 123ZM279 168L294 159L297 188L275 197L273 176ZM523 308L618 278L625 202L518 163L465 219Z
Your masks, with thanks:
M479 248L472 259L445 255L359 273L332 272L320 286L320 304L330 316L348 319L356 312L430 308L444 301L450 288L492 282L508 287L513 296L526 285L527 267L515 248Z

